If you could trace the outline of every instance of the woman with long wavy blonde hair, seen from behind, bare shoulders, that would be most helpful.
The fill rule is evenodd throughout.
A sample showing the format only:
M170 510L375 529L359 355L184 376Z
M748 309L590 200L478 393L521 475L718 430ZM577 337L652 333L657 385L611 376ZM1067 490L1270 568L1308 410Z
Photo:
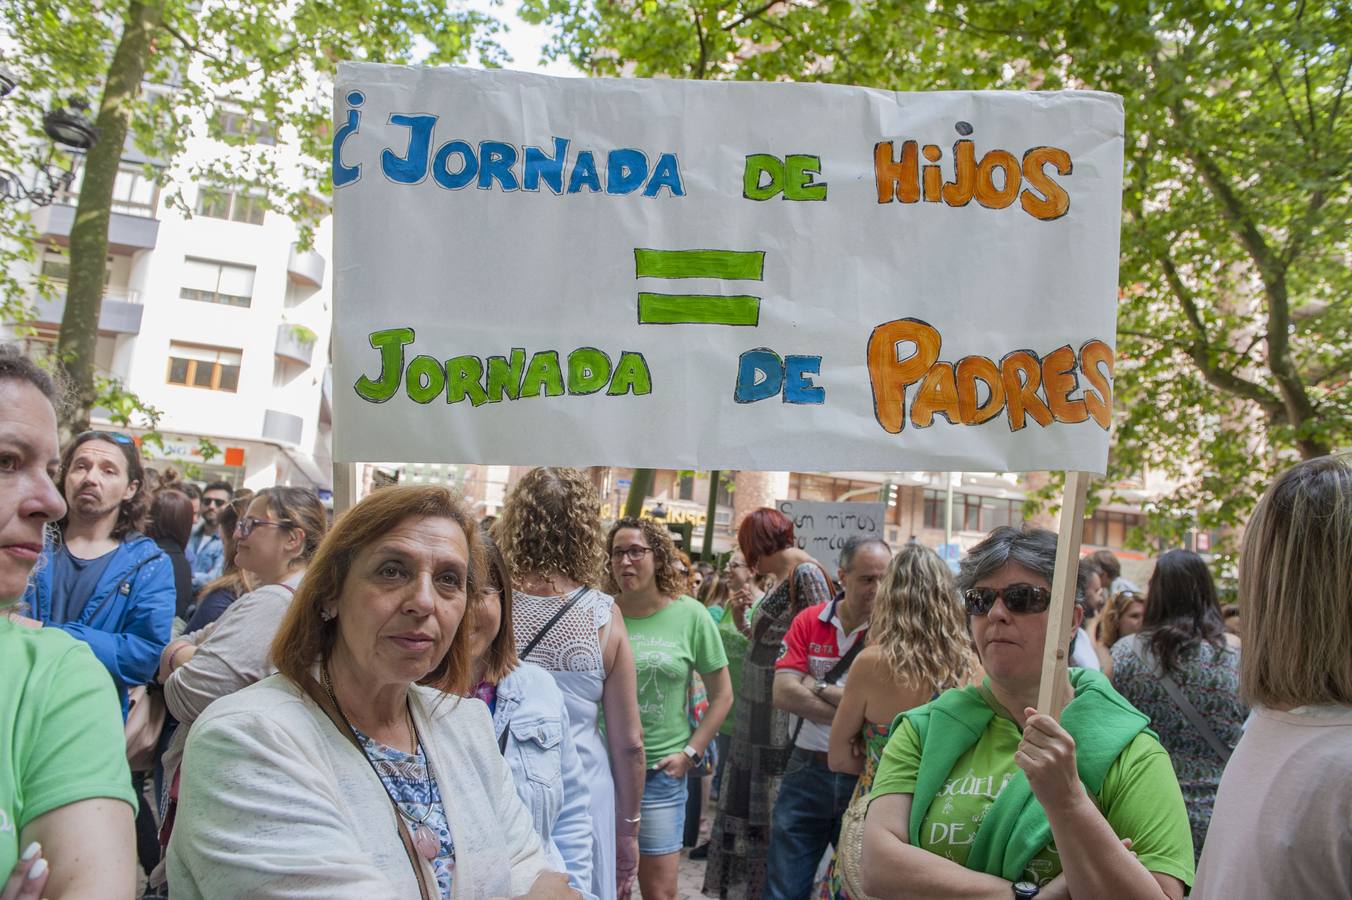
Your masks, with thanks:
M833 770L860 776L854 799L872 788L898 714L967 684L973 664L953 573L938 554L918 543L902 547L887 565L868 635L831 720L829 751ZM857 857L837 854L822 897L849 897L844 869L857 864Z

